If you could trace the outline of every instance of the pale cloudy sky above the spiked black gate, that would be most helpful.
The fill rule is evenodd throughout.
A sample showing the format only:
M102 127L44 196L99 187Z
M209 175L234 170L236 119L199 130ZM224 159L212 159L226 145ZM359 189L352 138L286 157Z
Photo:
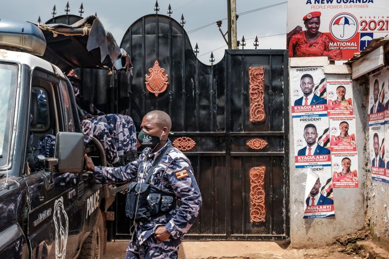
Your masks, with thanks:
M42 23L52 18L56 5L57 16L65 14L66 0L13 0L2 1L0 18L10 18L37 22L40 16ZM236 12L241 14L237 20L237 39L245 36L246 48L254 48L254 39L258 36L261 49L284 49L286 45L286 0L236 0ZM111 31L118 44L128 29L137 19L144 15L154 14L155 0L70 0L69 14L79 15L83 4L83 17L97 13L106 30ZM115 3L114 5L112 3ZM216 62L224 56L227 45L216 25L217 20L227 18L227 0L159 0L159 14L167 15L169 4L172 18L180 21L184 16L184 29L188 33L191 45L199 45L198 58L209 64L211 51ZM266 8L268 6L273 6ZM22 8L21 8L22 7ZM214 23L203 29L190 32L204 25ZM223 20L221 29L227 31L227 20ZM280 34L280 35L277 35ZM269 36L275 35L275 36Z

